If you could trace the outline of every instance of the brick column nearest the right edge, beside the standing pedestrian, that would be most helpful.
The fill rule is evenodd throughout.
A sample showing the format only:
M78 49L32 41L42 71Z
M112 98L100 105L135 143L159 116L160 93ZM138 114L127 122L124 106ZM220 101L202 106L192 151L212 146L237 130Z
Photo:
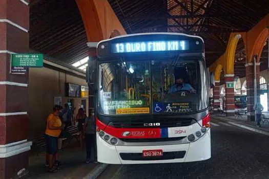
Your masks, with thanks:
M254 106L254 63L245 64L246 71L246 98L247 98L247 120L255 121ZM260 101L260 63L256 63L256 80L257 80L257 101Z

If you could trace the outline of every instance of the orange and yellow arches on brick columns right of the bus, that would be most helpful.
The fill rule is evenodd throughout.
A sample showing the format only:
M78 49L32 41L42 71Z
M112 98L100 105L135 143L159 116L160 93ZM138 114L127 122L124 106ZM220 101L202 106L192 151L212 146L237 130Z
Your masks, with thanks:
M225 85L226 82L232 82L232 75L234 74L234 56L235 56L235 50L237 46L237 42L240 38L243 39L244 46L246 48L246 83L247 83L247 111L248 111L248 119L249 121L254 120L254 111L253 111L253 105L254 105L254 56L257 56L257 66L256 66L256 75L257 75L257 92L259 92L259 60L263 48L263 44L267 39L268 36L268 26L269 23L269 14L266 15L257 25L255 25L250 31L248 32L242 32L242 33L231 33L229 42L227 44L227 48L225 53L217 60L215 61L211 66L211 71L216 69L215 67L218 64L221 64L223 66L224 72L226 74L225 76ZM228 74L228 75L227 75ZM230 92L228 92L229 90ZM228 89L226 86L226 96L227 93L229 95L229 99L226 99L229 109L232 111L234 107L232 105L232 89ZM259 101L259 93L257 93L257 101ZM234 97L233 97L234 98Z

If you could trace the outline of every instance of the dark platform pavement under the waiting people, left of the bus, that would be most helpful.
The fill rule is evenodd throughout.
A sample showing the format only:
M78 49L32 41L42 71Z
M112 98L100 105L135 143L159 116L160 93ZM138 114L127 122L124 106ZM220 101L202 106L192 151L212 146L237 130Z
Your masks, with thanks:
M29 173L26 178L90 178L102 164L85 162L86 149L72 142L59 151L61 165L56 173L48 173L45 166L46 153L31 152L29 156Z

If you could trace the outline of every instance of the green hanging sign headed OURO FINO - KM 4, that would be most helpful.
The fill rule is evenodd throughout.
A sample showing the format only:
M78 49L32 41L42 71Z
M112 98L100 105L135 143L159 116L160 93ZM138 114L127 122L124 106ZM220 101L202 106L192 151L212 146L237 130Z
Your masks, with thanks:
M43 54L12 54L11 69L14 66L43 67Z

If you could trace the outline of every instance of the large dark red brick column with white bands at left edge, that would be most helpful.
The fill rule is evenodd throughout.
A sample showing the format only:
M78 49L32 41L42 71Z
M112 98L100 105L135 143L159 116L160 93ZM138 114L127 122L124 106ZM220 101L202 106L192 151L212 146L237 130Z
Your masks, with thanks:
M28 5L0 1L0 178L28 171L28 74L10 74L10 54L29 51Z

